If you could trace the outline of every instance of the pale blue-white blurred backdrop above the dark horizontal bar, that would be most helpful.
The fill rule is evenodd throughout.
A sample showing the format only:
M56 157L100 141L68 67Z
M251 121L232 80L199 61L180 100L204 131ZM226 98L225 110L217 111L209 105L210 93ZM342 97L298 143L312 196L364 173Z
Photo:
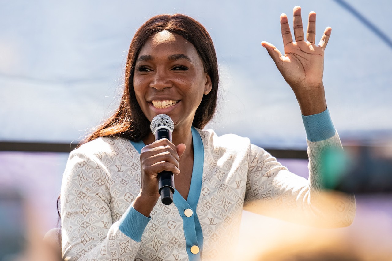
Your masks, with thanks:
M392 38L392 2L347 1ZM283 51L279 15L317 13L325 54L328 107L343 137L392 133L392 49L335 1L2 1L0 140L77 142L109 116L122 87L136 29L160 13L184 13L211 34L221 100L210 127L262 146L304 147L305 131L290 87L260 42Z

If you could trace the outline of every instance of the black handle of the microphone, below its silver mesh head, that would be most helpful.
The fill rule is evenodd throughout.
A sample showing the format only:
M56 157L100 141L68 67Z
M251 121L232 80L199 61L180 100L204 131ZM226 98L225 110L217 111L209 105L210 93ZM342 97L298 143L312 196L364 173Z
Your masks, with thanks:
M155 132L155 140L167 138L172 141L171 131L166 128L160 128ZM165 205L173 203L174 193L174 175L171 171L162 171L158 173L158 191L161 195L161 201Z

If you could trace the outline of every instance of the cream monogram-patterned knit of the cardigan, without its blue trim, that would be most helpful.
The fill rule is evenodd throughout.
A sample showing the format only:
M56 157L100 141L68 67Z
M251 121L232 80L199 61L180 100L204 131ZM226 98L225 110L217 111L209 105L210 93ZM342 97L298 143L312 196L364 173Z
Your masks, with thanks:
M230 259L244 207L278 217L281 210L299 210L299 220L332 217L331 225L338 226L352 222L353 196L343 195L333 202L323 201L321 196L320 153L326 147L341 146L337 134L308 142L308 181L289 172L247 138L232 134L218 137L212 130L198 132L204 146L196 208L203 233L201 259ZM140 191L139 156L123 138L98 138L71 152L61 190L65 260L193 259L185 249L187 228L174 204L158 201L140 242L118 228L118 220ZM323 211L325 204L329 215Z

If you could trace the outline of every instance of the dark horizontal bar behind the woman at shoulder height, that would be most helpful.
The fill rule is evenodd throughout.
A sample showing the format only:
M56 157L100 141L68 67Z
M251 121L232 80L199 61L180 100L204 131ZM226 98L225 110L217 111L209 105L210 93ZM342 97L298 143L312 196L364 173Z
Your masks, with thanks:
M75 149L75 143L46 143L46 142L17 142L0 141L0 151L23 151L23 152L71 152ZM307 159L306 150L265 149L276 158L284 159Z

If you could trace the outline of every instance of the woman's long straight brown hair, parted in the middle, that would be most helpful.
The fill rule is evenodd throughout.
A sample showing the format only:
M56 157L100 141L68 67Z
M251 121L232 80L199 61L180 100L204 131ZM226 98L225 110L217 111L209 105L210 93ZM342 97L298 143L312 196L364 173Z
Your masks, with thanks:
M151 132L150 122L144 116L136 101L133 75L140 49L150 36L163 30L176 33L193 44L203 62L204 71L211 78L211 92L203 95L192 125L203 129L212 119L218 100L219 76L218 62L211 37L203 25L189 16L184 14L161 14L150 18L135 33L129 47L125 66L124 92L120 105L117 111L105 123L100 125L93 134L88 136L84 142L105 136L123 137L132 141L139 141Z

